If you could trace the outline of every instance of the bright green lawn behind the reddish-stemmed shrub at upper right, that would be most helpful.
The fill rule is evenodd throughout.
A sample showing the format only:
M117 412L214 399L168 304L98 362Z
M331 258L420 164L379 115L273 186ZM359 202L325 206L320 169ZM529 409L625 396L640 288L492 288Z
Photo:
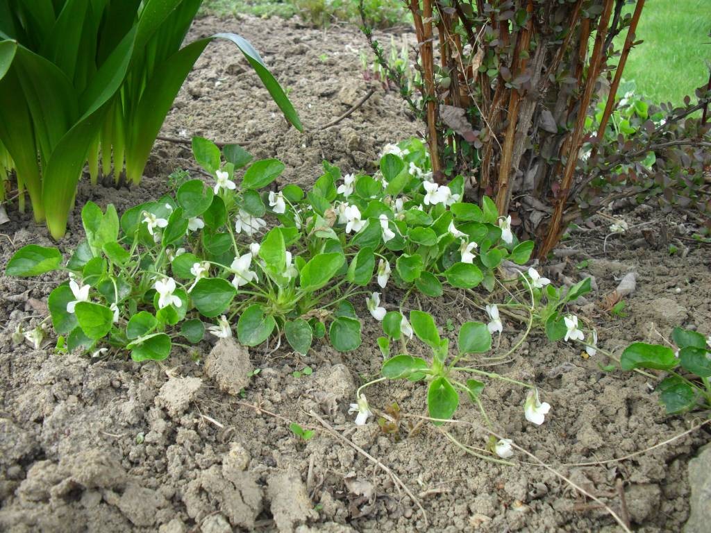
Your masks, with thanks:
M629 9L629 11L632 11ZM681 104L708 82L711 62L711 0L647 0L624 79L652 102ZM618 36L621 48L624 35Z

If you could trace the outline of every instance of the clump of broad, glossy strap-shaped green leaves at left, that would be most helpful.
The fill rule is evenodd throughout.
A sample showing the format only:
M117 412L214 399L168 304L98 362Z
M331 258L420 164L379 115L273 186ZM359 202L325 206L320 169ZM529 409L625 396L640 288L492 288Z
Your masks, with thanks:
M35 219L46 219L55 239L64 235L87 158L94 182L100 150L105 176L118 178L125 168L128 181L140 180L173 99L214 38L237 45L287 119L301 127L245 39L218 33L180 48L200 4L0 2L0 163L16 171L20 208L26 190Z

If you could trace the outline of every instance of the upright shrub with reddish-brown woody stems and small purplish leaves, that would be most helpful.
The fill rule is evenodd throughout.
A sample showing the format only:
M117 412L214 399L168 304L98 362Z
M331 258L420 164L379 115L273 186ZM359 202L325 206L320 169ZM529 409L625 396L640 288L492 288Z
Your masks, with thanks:
M466 176L467 193L495 198L498 214L514 215L519 232L535 238L539 257L555 246L567 222L615 199L660 191L667 200L708 212L707 194L699 188L711 163L710 126L694 112L707 107L711 86L697 90L697 102L688 99L677 109L640 102L635 124L627 119L620 134L609 129L644 2L626 15L624 4L413 1L418 83L390 68L360 2L378 63L427 125L436 180ZM623 31L624 46L615 50L613 38ZM597 130L586 131L606 76L609 97Z

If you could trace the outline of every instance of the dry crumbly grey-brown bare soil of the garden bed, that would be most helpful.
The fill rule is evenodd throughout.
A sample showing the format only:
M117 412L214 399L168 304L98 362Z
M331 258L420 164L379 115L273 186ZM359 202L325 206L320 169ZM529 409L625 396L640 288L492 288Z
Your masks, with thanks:
M324 32L280 20L203 18L191 38L218 30L242 33L262 50L272 72L292 89L310 131L287 129L245 61L220 43L198 61L164 126L166 136L249 143L257 157L282 158L287 171L281 183L309 183L319 176L322 158L343 171L368 169L383 144L417 132L397 96L383 92L338 126L314 128L367 89L357 55L364 43L355 29ZM85 201L114 203L122 211L164 193L167 174L191 164L187 149L159 143L140 186L80 186L60 247L68 254L80 239ZM0 227L3 270L24 244L51 244L30 215L12 207L9 214L11 222ZM562 243L576 249L575 255L554 259L542 271L557 284L594 276L589 305L575 311L597 325L600 345L608 350L668 338L674 325L709 335L711 256L688 238L690 222L646 206L615 215L631 225L628 235L605 243L609 220L594 217ZM678 247L673 257L668 242ZM630 271L638 276L636 291L626 298L627 316L611 316L599 302ZM176 350L163 364L137 365L124 354L97 360L56 355L50 340L40 350L13 345L17 325L30 328L46 317L46 298L58 281L54 274L0 274L1 530L619 530L604 509L523 454L515 456L514 466L483 461L460 451L434 426L405 416L397 435L384 434L372 420L355 427L348 404L359 384L378 375L382 362L375 345L379 326L362 303L356 307L365 317L363 345L346 354L320 343L305 357L284 348L245 354L232 347L238 350L232 353L222 345L205 365L214 343L203 342L192 354ZM400 297L384 294L385 306L395 308ZM481 311L455 298L410 301L418 303L442 324L484 320ZM505 319L498 351L508 350L520 334ZM545 424L527 423L525 392L503 382L488 384L484 407L499 433L618 512L616 482L622 480L638 531L678 532L689 515L687 465L709 433L701 429L625 461L594 464L642 451L697 421L665 416L651 379L604 372L599 365L606 363L602 355L584 358L572 345L552 344L535 333L491 370L535 383L552 405ZM306 365L312 375L292 375ZM252 367L261 372L249 380L225 370ZM235 383L245 384L241 394ZM421 384L376 384L368 399L379 410L397 402L404 415L424 414ZM331 436L311 411L400 476L427 518L390 475ZM478 409L463 399L457 417L468 424L449 427L451 434L483 447ZM315 429L316 436L296 441L290 421Z

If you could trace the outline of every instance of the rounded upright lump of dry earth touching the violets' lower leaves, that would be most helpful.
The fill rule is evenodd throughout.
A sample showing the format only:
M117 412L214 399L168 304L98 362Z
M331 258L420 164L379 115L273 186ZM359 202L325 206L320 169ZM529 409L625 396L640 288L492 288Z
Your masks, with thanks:
M252 372L250 353L234 338L221 338L205 358L205 374L215 380L220 390L237 396L247 387Z

